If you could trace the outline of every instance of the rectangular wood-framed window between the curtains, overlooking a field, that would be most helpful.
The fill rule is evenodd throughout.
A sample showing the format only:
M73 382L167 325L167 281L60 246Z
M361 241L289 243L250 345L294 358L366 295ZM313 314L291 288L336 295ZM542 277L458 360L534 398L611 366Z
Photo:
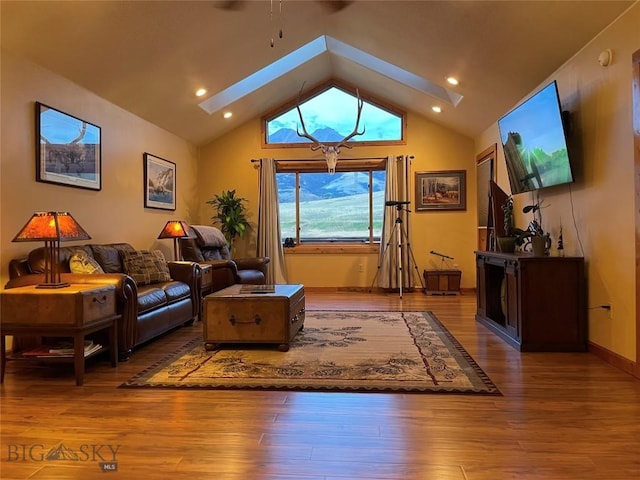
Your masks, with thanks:
M296 245L379 243L384 165L379 159L339 160L338 171L330 175L325 162L278 162L283 241L292 238Z

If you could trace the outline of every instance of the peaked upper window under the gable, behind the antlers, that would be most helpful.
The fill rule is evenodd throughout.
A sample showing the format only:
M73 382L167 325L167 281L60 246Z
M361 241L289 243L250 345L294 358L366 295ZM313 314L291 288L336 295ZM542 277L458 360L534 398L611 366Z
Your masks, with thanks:
M346 89L333 84L324 86L319 93L300 102L300 111L309 134L319 142L339 142L353 132L358 110L357 97ZM383 108L364 99L358 130L363 135L353 137L350 142L369 145L403 143L404 115ZM277 114L264 119L264 146L283 146L309 143L310 140L298 136L302 131L300 116L295 105L280 110Z

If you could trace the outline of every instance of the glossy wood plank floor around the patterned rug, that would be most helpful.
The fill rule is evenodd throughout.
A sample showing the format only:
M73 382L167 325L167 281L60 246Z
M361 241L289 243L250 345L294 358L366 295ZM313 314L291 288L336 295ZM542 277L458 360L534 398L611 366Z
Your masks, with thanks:
M429 310L503 396L117 389L197 334L176 330L85 384L10 362L0 478L627 480L640 478L640 381L589 353L519 353L475 297L309 291L309 310ZM41 459L59 444L78 461ZM101 447L102 446L102 447ZM117 472L99 462L114 459Z

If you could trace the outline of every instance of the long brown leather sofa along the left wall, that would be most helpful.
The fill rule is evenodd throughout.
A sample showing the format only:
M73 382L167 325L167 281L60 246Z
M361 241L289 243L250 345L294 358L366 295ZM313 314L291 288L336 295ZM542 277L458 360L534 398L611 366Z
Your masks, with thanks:
M130 256L137 251L128 243L88 244L61 247L59 257L62 281L115 286L118 313L122 315L118 325L121 360L127 359L135 347L173 328L192 324L200 308L200 269L196 263L164 262L169 270L165 281L145 284L125 273L124 252ZM71 273L70 261L79 256L97 262L104 273ZM5 288L43 282L44 264L44 247L32 250L27 258L11 260Z

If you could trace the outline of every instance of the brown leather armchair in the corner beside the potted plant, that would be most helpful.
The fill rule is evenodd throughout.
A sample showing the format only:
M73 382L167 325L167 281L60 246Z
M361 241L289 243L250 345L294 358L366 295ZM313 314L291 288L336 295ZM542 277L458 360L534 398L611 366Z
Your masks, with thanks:
M232 258L219 228L189 225L189 229L192 236L179 240L182 258L201 265L211 265L211 292L236 283L265 284L269 257Z

